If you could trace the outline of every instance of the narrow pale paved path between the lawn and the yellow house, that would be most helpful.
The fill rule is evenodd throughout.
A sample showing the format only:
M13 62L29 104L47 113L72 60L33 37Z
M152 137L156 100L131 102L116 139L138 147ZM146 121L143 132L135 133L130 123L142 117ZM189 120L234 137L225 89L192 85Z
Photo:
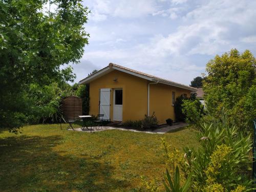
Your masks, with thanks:
M145 130L145 131L139 131L139 130L134 130L134 129L126 129L126 128L122 128L122 127L115 127L115 126L102 126L102 130L101 129L96 129L96 127L93 127L94 129L92 129L92 133L93 132L99 132L99 131L105 131L105 130L121 130L121 131L132 131L132 132L141 132L141 133L150 133L150 134L164 134L168 131L174 131L177 130L179 128L182 128L184 126L187 126L188 123L175 123L172 126L164 126L164 127L160 127L154 131L152 130ZM71 130L72 131L72 130ZM80 131L80 132L87 132L90 133L90 128L89 130L84 129L82 131L81 127L75 129L74 131Z

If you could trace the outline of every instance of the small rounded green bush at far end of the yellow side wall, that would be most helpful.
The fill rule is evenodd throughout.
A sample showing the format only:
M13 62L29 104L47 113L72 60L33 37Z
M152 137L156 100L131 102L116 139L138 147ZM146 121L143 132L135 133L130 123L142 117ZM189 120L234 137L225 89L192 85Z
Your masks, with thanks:
M182 113L185 114L185 121L188 123L199 124L204 113L204 108L198 99L186 99L183 101Z

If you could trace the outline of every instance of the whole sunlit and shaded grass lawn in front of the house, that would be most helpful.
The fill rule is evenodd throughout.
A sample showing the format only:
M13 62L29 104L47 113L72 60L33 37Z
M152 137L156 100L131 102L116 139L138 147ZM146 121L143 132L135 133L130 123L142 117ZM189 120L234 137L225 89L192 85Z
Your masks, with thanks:
M78 125L76 125L78 126ZM162 183L161 138L196 147L195 132L146 134L109 130L82 133L57 124L0 133L0 191L137 191L140 176Z

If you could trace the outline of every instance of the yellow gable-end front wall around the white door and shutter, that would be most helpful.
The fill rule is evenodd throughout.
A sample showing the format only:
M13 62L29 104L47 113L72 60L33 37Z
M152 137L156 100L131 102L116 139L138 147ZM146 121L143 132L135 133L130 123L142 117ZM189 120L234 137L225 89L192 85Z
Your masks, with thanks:
M117 78L117 82L114 79ZM143 119L147 113L147 80L114 70L90 82L90 115L99 113L99 89L111 88L113 120L113 89L123 89L123 121Z

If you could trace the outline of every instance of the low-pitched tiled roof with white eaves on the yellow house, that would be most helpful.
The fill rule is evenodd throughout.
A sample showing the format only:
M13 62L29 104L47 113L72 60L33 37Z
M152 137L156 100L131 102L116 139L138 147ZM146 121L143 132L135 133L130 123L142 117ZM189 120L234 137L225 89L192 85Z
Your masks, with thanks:
M168 84L170 86L179 87L179 88L183 88L183 89L188 89L190 91L196 91L196 88L186 86L185 84L177 83L177 82L174 82L174 81L170 81L170 80L167 80L167 79L163 79L163 78L160 78L160 77L156 77L156 76L153 76L153 75L149 75L149 74L146 74L146 73L135 71L133 69L129 69L129 68L126 68L126 67L123 67L123 66L116 65L114 63L110 63L109 66L99 70L98 72L88 76L87 78L84 78L84 79L80 80L79 84L89 83L92 80L97 79L97 78L103 76L104 74L110 73L111 71L114 71L114 70L122 71L124 73L129 73L131 75L141 77L143 79L147 79L147 80L150 80L150 81L154 81L154 82L158 81L159 83Z

